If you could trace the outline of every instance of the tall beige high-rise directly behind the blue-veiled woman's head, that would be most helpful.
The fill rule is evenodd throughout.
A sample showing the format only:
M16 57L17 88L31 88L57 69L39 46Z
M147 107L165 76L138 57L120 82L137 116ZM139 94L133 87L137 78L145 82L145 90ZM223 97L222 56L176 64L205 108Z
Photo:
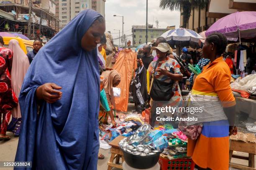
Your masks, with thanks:
M58 10L62 28L82 10L93 9L105 18L106 0L59 0Z

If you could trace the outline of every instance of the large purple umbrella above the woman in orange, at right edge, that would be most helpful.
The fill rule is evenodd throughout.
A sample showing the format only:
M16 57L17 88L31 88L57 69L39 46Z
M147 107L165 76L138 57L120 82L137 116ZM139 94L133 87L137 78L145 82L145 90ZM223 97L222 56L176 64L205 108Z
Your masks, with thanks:
M220 18L206 32L206 37L214 32L220 32L227 38L236 38L241 42L241 38L256 37L256 12L243 11L236 12Z

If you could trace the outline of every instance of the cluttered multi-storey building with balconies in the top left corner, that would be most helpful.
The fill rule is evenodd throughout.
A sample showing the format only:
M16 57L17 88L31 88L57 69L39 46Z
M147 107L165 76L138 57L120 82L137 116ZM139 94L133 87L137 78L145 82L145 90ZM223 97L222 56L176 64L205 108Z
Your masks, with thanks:
M31 39L40 36L50 39L59 32L59 18L56 17L55 0L33 0L31 13L31 34L28 35L29 0L0 0L0 21L2 32L22 32Z

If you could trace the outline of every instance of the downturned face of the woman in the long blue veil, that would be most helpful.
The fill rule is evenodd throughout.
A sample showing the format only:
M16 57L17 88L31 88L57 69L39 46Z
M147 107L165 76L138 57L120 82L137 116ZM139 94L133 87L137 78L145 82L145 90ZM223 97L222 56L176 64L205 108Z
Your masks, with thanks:
M105 22L100 23L95 21L92 26L85 32L81 40L81 46L86 51L91 51L100 43L100 37L104 34L106 29Z

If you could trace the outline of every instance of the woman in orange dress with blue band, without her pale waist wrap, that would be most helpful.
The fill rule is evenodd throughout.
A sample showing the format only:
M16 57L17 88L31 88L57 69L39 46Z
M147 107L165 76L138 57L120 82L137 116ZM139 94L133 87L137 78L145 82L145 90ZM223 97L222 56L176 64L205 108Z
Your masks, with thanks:
M234 125L235 98L230 88L230 69L222 54L227 39L220 33L207 37L203 47L204 57L210 64L195 79L192 95L218 96L228 120L204 122L197 140L188 141L187 155L191 156L199 170L228 170L229 135L236 134Z

